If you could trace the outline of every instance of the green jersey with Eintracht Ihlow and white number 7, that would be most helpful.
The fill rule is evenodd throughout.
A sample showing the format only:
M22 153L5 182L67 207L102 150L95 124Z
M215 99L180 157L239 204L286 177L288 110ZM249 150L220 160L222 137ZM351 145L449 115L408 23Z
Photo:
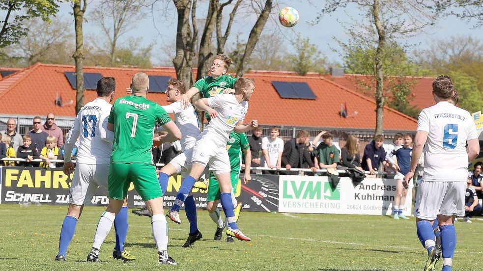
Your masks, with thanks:
M114 102L109 123L114 124L111 163L153 163L151 148L156 123L171 121L166 111L141 96L127 96Z

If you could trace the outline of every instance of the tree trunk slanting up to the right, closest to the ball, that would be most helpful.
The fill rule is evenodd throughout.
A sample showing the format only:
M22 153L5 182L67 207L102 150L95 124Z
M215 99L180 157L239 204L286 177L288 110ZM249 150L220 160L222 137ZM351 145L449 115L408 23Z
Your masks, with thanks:
M258 42L258 38L260 37L261 31L268 20L268 16L270 15L270 11L272 10L273 4L272 0L266 0L265 8L258 16L256 20L255 26L252 28L250 32L250 36L248 37L247 46L245 47L245 53L243 54L242 58L240 59L240 63L236 70L236 77L240 78L243 76L245 72L247 72L248 68L245 65L246 62L250 59L253 50L255 49L255 45Z

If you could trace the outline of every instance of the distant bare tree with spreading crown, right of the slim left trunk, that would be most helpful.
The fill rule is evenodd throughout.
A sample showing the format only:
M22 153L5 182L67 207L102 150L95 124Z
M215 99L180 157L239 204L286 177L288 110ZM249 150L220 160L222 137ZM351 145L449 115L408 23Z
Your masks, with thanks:
M145 12L144 0L103 0L92 12L92 21L98 24L109 41L111 65L116 60L119 37L136 27L134 24Z

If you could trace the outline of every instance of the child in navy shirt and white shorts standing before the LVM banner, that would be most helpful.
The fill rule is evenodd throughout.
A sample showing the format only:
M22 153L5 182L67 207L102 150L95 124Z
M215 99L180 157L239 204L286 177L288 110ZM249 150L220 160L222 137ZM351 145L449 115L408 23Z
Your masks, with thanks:
M402 187L402 179L409 172L411 165L411 151L413 150L410 144L413 142L413 136L411 134L403 135L404 145L396 146L392 151L392 155L398 159L398 172L394 179L396 179L396 196L393 203L393 218L394 219L409 219L402 214L404 210L404 203L406 202L407 189ZM412 180L409 182L409 189L412 188Z

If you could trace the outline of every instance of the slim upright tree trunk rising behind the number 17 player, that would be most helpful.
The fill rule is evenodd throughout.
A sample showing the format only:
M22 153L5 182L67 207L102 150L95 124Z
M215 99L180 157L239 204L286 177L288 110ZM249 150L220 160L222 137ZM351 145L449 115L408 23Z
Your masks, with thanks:
M74 27L76 31L76 51L74 52L74 60L76 61L76 114L79 113L84 106L84 36L82 32L82 23L84 21L84 12L87 7L87 0L74 1Z

